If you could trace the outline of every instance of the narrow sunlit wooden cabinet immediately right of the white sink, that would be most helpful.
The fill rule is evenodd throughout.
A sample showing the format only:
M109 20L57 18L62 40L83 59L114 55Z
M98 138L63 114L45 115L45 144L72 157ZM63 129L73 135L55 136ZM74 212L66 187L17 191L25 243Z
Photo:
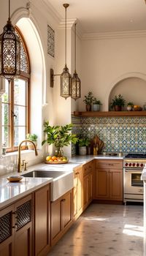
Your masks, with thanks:
M82 214L82 192L83 192L83 173L82 167L74 170L74 189L73 189L73 217L77 219Z

